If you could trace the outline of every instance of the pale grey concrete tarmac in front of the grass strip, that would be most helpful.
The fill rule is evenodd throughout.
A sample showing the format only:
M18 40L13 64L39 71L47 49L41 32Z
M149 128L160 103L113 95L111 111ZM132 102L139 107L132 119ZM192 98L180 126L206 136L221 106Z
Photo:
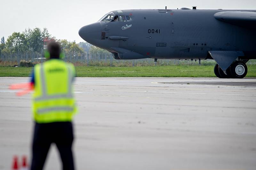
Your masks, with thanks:
M31 94L0 78L0 170L30 155ZM76 78L76 169L255 170L256 78ZM55 145L45 169L60 169Z

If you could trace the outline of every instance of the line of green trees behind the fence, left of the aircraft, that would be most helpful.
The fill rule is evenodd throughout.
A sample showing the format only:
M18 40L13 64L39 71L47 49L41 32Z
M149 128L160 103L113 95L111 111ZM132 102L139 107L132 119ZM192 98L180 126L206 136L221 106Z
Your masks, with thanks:
M0 44L0 54L1 53L19 53L27 51L42 52L43 50L43 39L44 37L49 37L50 39L55 39L59 42L62 50L66 53L79 53L84 51L105 51L87 42L67 41L67 40L57 40L52 36L47 28L41 30L40 28L25 29L23 32L14 32L5 41L4 37L1 38Z

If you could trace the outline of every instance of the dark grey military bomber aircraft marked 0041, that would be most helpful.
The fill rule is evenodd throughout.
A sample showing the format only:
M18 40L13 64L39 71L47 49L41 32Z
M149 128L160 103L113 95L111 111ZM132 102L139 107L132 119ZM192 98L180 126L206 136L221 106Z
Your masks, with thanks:
M244 78L256 59L256 10L117 10L79 35L117 60L214 59L219 78Z

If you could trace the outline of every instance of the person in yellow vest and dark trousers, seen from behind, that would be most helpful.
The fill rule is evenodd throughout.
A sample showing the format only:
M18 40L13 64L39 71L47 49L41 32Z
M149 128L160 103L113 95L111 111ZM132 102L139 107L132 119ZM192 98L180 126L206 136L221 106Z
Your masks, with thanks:
M37 64L32 72L34 83L33 115L35 129L32 145L31 170L43 169L48 150L55 143L62 160L63 170L73 170L72 117L76 112L72 93L75 69L61 60L57 42L50 42L43 64Z

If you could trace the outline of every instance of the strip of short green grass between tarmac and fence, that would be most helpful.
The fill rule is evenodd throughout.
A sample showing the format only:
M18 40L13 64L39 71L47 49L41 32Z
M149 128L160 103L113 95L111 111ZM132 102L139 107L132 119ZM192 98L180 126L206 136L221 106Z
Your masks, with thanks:
M214 66L140 66L86 67L77 66L77 77L216 77ZM0 67L0 77L28 77L32 67ZM256 77L256 65L248 66L246 77Z

